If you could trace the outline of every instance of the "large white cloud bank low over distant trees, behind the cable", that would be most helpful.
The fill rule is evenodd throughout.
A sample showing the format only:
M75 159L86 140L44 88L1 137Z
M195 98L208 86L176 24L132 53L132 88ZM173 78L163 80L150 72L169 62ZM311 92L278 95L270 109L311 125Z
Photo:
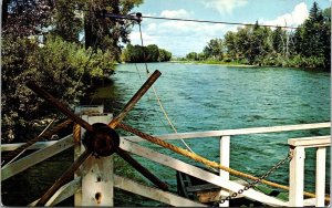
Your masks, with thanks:
M194 12L184 9L164 10L159 17L193 18ZM142 24L144 45L157 44L174 55L185 55L189 52L201 52L210 39L221 38L226 31L225 24L209 24L181 21L148 20ZM141 44L137 28L129 34L132 44Z

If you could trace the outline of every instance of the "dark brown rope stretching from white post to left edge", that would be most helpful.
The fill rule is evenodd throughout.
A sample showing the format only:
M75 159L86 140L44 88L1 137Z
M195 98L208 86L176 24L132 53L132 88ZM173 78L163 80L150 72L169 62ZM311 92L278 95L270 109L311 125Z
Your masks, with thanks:
M72 123L71 119L66 119L65 122L54 126L52 129L48 131L48 132L43 132L42 134L40 134L39 136L37 136L35 138L27 142L25 144L23 144L22 146L20 146L19 148L8 153L7 155L3 156L3 160L4 162L11 162L13 158L17 157L17 155L19 155L21 152L25 150L28 147L30 147L31 145L33 145L34 143L41 141L42 138L46 138L46 137L51 137L53 134L56 134L59 131L61 131L62 128L66 127L68 125L70 125Z

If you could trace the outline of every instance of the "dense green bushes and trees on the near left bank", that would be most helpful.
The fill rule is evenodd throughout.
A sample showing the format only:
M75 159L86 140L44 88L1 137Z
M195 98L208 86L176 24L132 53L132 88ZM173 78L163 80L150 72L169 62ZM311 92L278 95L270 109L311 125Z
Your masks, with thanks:
M98 19L98 11L126 14L139 3L142 0L4 0L1 141L23 142L59 114L25 86L28 81L72 107L94 81L112 74L132 23Z

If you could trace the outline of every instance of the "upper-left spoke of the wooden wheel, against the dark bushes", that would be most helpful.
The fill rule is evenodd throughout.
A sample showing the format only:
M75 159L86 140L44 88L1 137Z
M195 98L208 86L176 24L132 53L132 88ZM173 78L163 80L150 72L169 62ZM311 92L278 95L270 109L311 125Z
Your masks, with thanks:
M56 98L54 98L50 93L34 84L33 82L28 82L27 86L32 90L34 93L37 93L39 96L46 100L49 103L51 103L54 107L56 107L59 111L61 111L64 115L70 117L73 122L80 124L83 128L86 131L92 132L92 126L82 119L81 117L76 116L74 113L72 113L68 107L65 107L61 102L59 102Z

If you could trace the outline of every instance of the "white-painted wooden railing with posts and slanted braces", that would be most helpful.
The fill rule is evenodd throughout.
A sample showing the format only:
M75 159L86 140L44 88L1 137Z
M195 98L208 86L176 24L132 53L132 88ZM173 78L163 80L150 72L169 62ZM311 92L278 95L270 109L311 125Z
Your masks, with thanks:
M104 115L107 116L107 115ZM89 119L87 117L84 117L86 121L95 121ZM110 121L110 117L104 118L103 122L107 123ZM100 121L101 122L101 121ZM197 132L197 133L179 133L179 134L167 134L167 135L157 135L157 137L162 139L189 139L189 138L199 138L199 137L219 137L220 138L220 164L224 166L228 166L230 164L230 139L232 136L237 135L248 135L248 134L262 134L262 133L280 133L280 132L291 132L291 131L305 131L305 129L315 129L315 128L329 128L331 126L331 123L317 123L317 124L301 124L301 125L287 125L287 126L272 126L272 127L256 127L256 128L240 128L240 129L225 129L225 131L208 131L208 132ZM125 138L125 139L124 139ZM318 175L324 175L325 174L325 166L323 165L323 162L325 162L325 147L330 145L330 142L326 141L328 137L311 137L304 138L305 142L301 142L302 139L289 139L289 145L291 145L293 148L293 155L294 159L292 159L290 164L290 201L283 201L281 199L267 196L262 193L259 193L253 189L249 189L242 194L243 197L261 201L266 205L270 206L303 206L303 205L312 205L309 204L308 200L303 200L303 160L304 160L304 148L308 147L318 147L318 167L317 174ZM207 138L208 139L208 138ZM203 180L206 180L208 183L215 184L217 186L220 186L222 188L221 195L227 196L229 193L235 193L239 190L240 188L243 188L243 185L238 184L237 181L232 181L229 179L229 174L226 171L220 171L220 176L217 176L215 174L211 174L209 171L206 171L204 169L200 169L196 166L186 164L179 159L169 157L167 155L157 153L155 150L152 150L149 148L143 147L137 144L137 142L143 141L139 137L136 136L126 136L121 138L121 148L145 157L147 159L151 159L155 163L162 164L164 166L168 166L173 169L186 173L190 176L200 178ZM310 144L310 145L308 145ZM22 144L8 144L8 145L1 145L1 152L4 150L13 150L18 148ZM43 143L37 143L29 147L30 149L39 149L31 154L30 156L19 159L4 168L1 169L1 181L17 175L18 173L21 173L25 170L27 168L35 165L37 163L40 163L71 146L74 146L74 142L72 136L66 136L59 142L43 142ZM42 148L42 149L40 149ZM84 148L84 147L75 147L75 148ZM271 147L272 148L272 147ZM80 149L79 152L81 152ZM77 154L77 149L75 150ZM91 158L94 159L94 158ZM76 174L76 177L71 183L63 186L50 200L46 205L55 205L60 202L61 200L64 200L65 198L75 195L75 206L105 206L104 202L97 202L94 200L93 196L95 196L95 193L93 191L107 191L106 195L108 199L108 204L106 206L113 206L113 187L117 187L121 189L125 189L127 191L132 191L137 195L142 195L148 198L152 198L154 200L158 200L162 202L166 202L173 206L204 206L203 204L191 201L188 199L185 199L183 197L179 197L177 195L174 195L172 193L167 193L157 188L153 188L149 186L145 186L142 184L138 184L134 180L131 180L128 178L124 178L123 176L117 176L115 174L112 174L113 169L113 160L112 156L107 158L102 158L104 162L98 162L100 165L97 165L96 169L94 169L94 174L89 176L89 180L86 181L85 173L89 173L91 168L95 168L93 165L93 162L86 162L83 164L83 167L80 168L80 173ZM104 165L101 165L102 163L105 163ZM104 169L105 168L105 169ZM107 170L110 173L111 168L111 175L107 175L107 181L110 179L113 179L113 183L105 184L104 178L101 178L101 176L105 176L104 171ZM158 173L155 173L158 175ZM97 179L98 178L98 179ZM98 181L98 183L96 183ZM85 185L82 185L82 183L85 183ZM87 184L86 184L87 183ZM87 186L89 185L89 186ZM93 191L91 186L93 186ZM85 188L86 187L86 188ZM90 188L87 188L90 187ZM101 188L102 187L102 188ZM77 191L81 191L81 194L77 195ZM89 193L89 195L86 195ZM317 206L324 205L322 196L325 193L325 181L319 177L317 179L317 199L315 204ZM83 196L90 196L84 197ZM111 200L111 202L110 202ZM222 206L229 206L227 202L222 204Z

